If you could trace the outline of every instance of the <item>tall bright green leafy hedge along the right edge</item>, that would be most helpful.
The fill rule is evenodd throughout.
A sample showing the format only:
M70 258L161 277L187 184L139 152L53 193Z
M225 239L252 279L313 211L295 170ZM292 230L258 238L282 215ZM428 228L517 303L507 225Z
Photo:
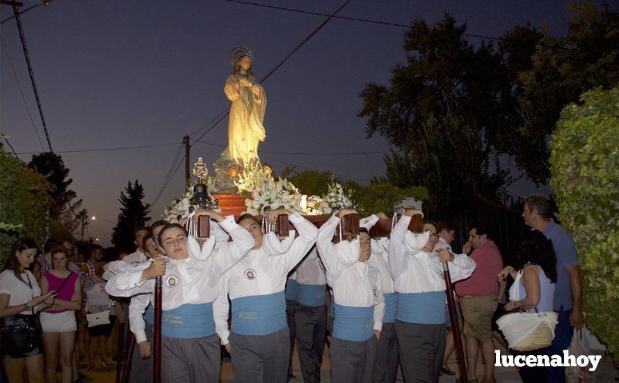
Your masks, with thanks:
M584 276L586 322L610 352L619 346L619 88L596 88L561 112L550 144L558 219Z

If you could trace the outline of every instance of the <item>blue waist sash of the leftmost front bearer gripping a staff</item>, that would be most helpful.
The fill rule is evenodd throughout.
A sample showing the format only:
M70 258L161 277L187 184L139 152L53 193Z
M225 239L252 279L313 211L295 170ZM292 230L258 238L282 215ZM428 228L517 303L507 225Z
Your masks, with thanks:
M202 338L215 334L213 302L184 304L162 313L161 334L168 338Z

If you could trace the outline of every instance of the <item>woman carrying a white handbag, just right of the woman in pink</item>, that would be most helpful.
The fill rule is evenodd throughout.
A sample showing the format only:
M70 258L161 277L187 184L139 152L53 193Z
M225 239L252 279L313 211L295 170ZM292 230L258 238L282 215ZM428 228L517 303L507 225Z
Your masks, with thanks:
M114 302L105 292L106 281L103 279L103 264L97 263L95 275L86 277L86 320L88 320L88 370L95 368L95 355L101 351L101 366L112 365L108 361L108 340L116 320Z

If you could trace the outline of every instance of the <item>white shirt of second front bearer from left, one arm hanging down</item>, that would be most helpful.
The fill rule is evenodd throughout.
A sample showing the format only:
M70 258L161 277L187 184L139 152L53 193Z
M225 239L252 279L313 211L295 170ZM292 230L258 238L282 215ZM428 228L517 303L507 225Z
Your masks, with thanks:
M307 219L294 213L289 216L299 236L289 250L281 255L269 255L264 249L250 251L220 279L220 295L213 304L215 329L221 344L228 343L228 311L230 299L270 295L284 291L288 273L294 269L307 251L312 249L318 229Z

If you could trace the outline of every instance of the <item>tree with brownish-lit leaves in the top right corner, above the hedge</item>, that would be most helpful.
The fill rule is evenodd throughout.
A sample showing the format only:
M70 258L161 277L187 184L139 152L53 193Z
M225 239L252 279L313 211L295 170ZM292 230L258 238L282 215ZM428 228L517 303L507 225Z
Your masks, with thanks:
M571 3L568 12L567 35L555 38L544 31L532 67L520 74L518 102L524 120L512 154L535 182L549 177L547 141L561 109L590 89L619 84L619 12L589 2Z

